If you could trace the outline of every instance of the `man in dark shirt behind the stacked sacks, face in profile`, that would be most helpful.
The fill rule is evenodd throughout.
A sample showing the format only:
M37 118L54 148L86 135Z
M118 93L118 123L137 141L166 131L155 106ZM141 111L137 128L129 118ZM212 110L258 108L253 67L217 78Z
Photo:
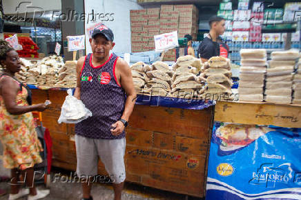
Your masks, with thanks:
M209 19L209 26L210 32L197 50L197 54L203 63L211 57L220 56L220 44L217 43L217 38L224 34L225 20L222 17L213 16Z

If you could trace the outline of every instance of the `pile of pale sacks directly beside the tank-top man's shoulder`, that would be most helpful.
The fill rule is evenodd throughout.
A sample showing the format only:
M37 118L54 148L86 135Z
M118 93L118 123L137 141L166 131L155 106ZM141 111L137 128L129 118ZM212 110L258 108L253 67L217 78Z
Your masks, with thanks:
M137 93L141 93L144 89L148 89L146 82L149 81L146 76L146 72L150 71L150 66L146 65L144 62L137 62L130 66L132 71L133 83Z

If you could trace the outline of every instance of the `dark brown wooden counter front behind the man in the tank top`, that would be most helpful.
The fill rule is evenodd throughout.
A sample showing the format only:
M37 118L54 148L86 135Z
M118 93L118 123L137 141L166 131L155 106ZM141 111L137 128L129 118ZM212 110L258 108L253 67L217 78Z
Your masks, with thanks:
M43 126L52 137L52 166L75 170L74 125L57 123L66 91L32 90L33 103L49 99ZM184 110L136 105L126 128L126 181L204 197L213 106ZM99 163L99 174L106 174Z

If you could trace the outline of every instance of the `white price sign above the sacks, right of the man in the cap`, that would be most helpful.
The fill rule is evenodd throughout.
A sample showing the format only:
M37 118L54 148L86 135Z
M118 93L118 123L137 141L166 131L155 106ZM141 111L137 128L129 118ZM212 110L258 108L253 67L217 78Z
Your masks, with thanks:
M155 51L157 52L162 52L179 46L179 41L177 41L177 31L158 34L155 35L154 38Z

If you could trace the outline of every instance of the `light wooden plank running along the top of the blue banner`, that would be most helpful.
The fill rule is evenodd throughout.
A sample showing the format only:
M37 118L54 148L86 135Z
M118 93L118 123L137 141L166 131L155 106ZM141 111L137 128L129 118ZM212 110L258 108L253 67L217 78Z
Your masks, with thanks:
M217 101L215 121L301 128L301 106Z

